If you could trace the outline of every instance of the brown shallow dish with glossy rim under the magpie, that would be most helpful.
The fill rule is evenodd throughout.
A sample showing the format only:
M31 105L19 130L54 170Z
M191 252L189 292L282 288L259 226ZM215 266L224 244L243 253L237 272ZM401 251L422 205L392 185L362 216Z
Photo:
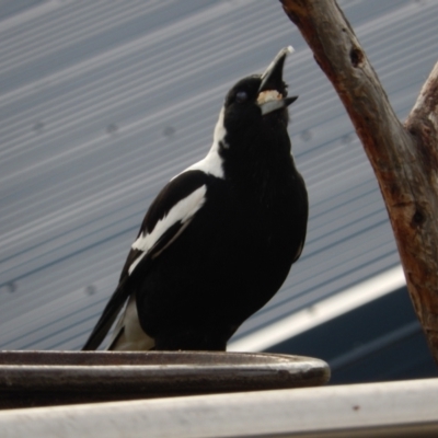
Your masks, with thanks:
M323 360L201 351L2 351L0 408L321 385Z

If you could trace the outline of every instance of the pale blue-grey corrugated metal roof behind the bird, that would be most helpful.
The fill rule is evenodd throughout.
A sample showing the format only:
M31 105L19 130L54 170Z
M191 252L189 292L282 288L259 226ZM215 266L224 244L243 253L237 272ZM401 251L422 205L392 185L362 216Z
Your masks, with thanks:
M401 118L437 60L430 0L339 2ZM399 263L370 165L276 2L0 3L0 347L79 348L163 184L209 149L230 85L280 47L310 193L304 253L238 337Z

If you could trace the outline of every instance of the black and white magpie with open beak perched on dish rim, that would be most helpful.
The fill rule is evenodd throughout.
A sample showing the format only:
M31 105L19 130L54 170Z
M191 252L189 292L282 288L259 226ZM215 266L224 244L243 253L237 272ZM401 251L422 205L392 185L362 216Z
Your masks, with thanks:
M210 151L150 206L84 350L100 346L125 304L108 349L224 350L280 288L308 221L287 132L290 51L228 92Z

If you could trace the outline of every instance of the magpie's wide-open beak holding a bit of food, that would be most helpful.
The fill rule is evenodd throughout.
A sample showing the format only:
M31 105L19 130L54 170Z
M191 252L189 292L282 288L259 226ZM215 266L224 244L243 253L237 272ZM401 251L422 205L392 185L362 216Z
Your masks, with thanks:
M257 97L257 104L262 110L262 115L286 108L298 99L298 96L285 97L283 95L285 89L283 67L286 57L292 51L293 48L291 46L283 48L262 74L262 83L258 88Z

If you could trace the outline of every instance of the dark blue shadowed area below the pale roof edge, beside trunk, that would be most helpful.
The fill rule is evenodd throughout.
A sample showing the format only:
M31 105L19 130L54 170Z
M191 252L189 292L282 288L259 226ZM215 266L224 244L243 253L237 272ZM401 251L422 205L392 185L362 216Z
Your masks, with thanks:
M265 350L323 358L331 369L330 384L438 376L406 287L322 321Z

